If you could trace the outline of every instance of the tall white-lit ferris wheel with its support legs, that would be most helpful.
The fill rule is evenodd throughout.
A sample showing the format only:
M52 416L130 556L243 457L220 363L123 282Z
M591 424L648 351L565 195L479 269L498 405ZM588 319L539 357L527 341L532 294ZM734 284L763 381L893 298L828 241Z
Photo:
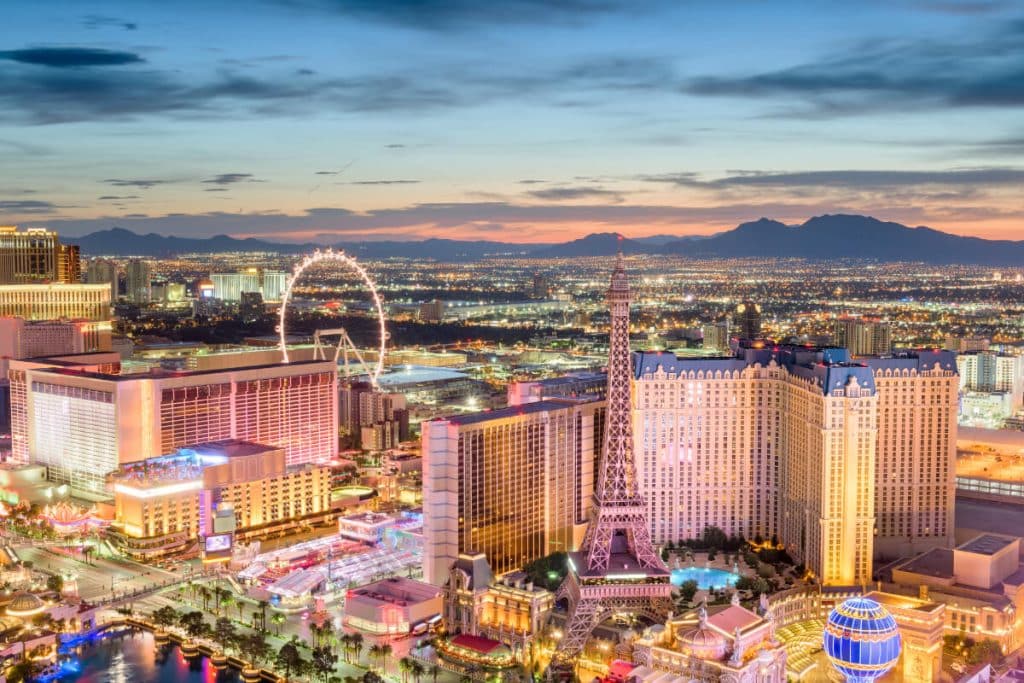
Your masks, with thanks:
M362 354L359 352L357 348L355 348L355 345L352 344L352 340L348 336L348 333L340 328L333 330L316 331L316 333L314 334L314 340L315 340L314 357L315 354L319 354L321 359L326 359L326 354L324 353L324 349L321 346L319 342L322 336L326 335L337 336L339 337L339 342L338 342L338 347L335 351L335 360L337 360L339 355L342 352L344 352L345 370L347 373L348 352L349 350L351 350L355 354L356 358L358 358L359 362L366 369L367 374L370 376L370 382L376 387L377 379L384 371L384 353L386 352L387 349L388 334L384 324L385 323L384 306L381 303L380 294L378 294L377 292L377 285L370 276L370 273L367 272L366 268L364 268L358 261L356 261L354 258L352 258L343 251L334 251L333 249L327 249L321 251L317 249L312 254L309 254L304 259L302 259L302 261L297 263L294 268L292 268L292 276L288 280L288 286L285 288L285 293L281 299L281 310L279 312L279 321L278 321L278 335L280 337L282 361L283 362L290 361L288 355L288 344L287 344L288 333L285 328L285 318L288 314L288 305L292 301L292 290L295 288L295 284L299 281L299 278L301 278L302 274L306 271L306 268L325 261L333 261L335 263L341 263L348 269L354 271L362 280L362 284L367 286L367 289L370 290L370 295L373 297L374 307L376 308L377 312L377 324L378 324L377 362L370 365L366 364L362 359Z

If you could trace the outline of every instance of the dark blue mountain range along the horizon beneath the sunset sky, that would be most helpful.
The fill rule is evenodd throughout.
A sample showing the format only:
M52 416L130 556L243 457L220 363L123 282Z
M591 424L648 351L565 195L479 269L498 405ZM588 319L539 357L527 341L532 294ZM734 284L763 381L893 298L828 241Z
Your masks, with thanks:
M137 234L115 227L76 240L85 255L166 257L187 253L266 251L299 254L326 245L275 243L225 234L207 239ZM815 216L800 225L761 218L710 237L658 234L628 239L597 232L558 244L512 244L494 241L430 239L416 242L360 242L331 245L361 258L425 258L472 261L485 257L530 256L579 258L626 254L694 258L805 258L834 260L920 261L1007 266L1024 263L1024 241L983 240L908 227L870 216Z

